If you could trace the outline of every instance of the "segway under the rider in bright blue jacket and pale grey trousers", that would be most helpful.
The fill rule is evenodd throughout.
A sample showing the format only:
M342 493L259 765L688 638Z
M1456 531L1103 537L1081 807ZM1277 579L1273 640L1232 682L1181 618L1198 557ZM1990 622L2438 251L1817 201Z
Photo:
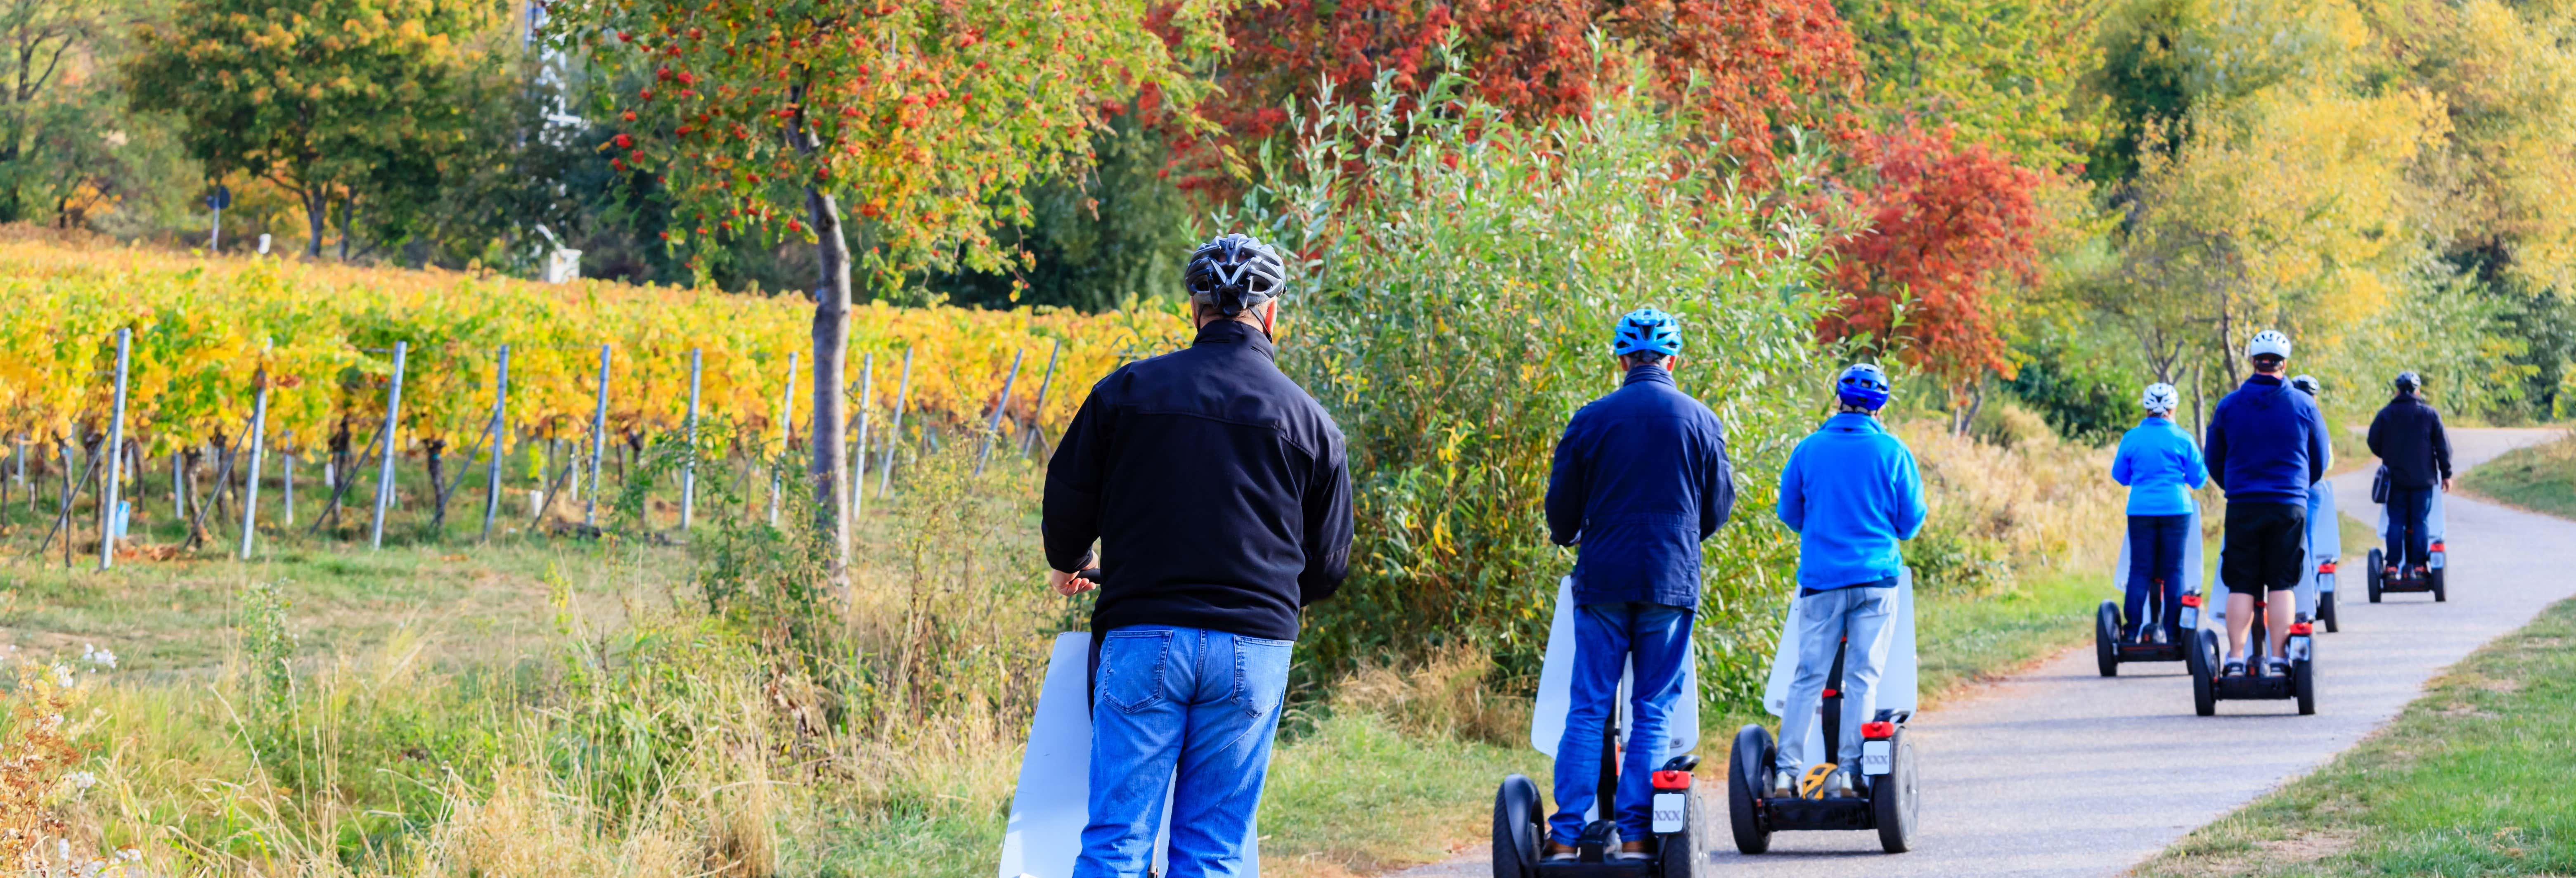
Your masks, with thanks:
M1806 597L1801 597L1806 600ZM1790 602L1780 626L1780 651L1772 657L1770 685L1762 705L1772 716L1788 713L1788 687L1798 675L1798 602ZM1824 680L1821 713L1808 726L1806 742L1777 742L1767 726L1744 726L1726 754L1726 816L1736 850L1759 855L1770 850L1772 832L1860 829L1878 832L1878 847L1899 855L1914 847L1919 778L1914 744L1906 739L1906 721L1914 718L1914 572L1896 577L1896 623L1886 628L1888 664L1878 675L1878 711L1860 726L1860 775L1855 796L1824 796L1821 785L1808 796L1770 796L1767 778L1777 765L1780 747L1803 747L1811 767L1826 767L1834 744L1842 739L1842 659L1850 641L1834 651L1834 667Z

